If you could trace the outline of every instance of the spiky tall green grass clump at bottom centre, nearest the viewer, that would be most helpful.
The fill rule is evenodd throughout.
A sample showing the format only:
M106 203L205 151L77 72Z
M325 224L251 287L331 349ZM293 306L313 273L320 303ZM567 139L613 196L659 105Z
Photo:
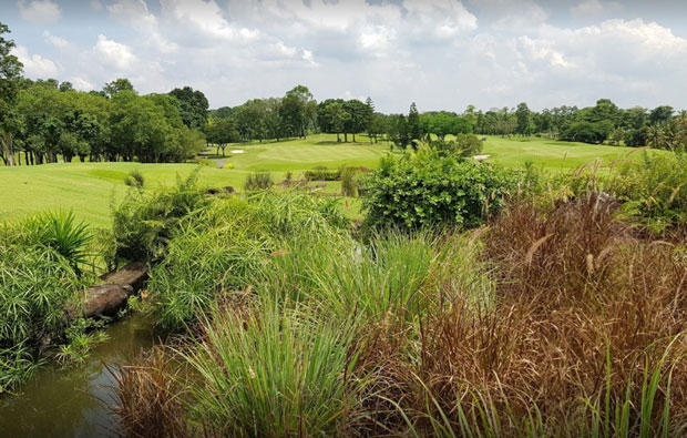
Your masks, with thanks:
M356 412L347 325L274 303L216 307L202 339L183 354L199 376L187 408L223 436L332 436Z

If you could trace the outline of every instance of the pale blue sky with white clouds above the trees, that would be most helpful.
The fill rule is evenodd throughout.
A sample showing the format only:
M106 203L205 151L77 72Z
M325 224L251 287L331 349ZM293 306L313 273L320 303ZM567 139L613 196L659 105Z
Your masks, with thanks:
M211 108L304 84L383 112L687 108L685 17L679 0L0 0L32 79L189 85Z

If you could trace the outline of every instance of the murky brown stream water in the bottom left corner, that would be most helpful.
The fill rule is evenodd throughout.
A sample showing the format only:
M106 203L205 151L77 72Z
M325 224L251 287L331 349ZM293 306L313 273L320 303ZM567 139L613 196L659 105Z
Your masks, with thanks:
M152 322L132 315L106 328L110 339L98 345L81 366L41 368L16 396L0 398L1 437L114 437L107 409L114 379L104 364L125 363L153 345Z

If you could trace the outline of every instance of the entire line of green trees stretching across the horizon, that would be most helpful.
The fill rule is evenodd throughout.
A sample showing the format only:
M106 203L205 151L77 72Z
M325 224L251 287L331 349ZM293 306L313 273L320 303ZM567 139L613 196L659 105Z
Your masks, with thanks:
M687 144L687 112L660 105L621 109L608 99L594 106L558 106L536 112L516 108L462 113L383 114L373 101L317 102L307 86L281 98L253 99L238 106L208 110L203 92L189 86L166 94L140 95L126 79L100 91L80 92L69 82L32 81L11 54L14 42L0 23L0 159L6 165L72 161L181 162L214 144L223 153L236 142L305 139L331 133L339 142L386 140L399 149L421 142L472 142L466 134L537 135L554 140L675 149ZM464 149L464 146L461 146Z

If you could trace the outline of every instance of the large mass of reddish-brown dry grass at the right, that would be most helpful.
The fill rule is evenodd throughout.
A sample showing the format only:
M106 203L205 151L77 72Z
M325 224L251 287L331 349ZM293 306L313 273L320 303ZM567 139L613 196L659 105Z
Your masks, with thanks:
M687 271L673 244L633 237L615 207L597 195L547 212L520 204L491 225L484 255L495 267L495 304L475 309L455 297L428 316L420 378L437 404L416 409L441 408L457 425L458 406L474 408L476 395L511 419L535 409L553 430L578 430L588 420L581 400L606 390L607 358L612 405L628 383L633 409L640 405L644 371L686 328ZM686 354L678 337L669 357L675 419L687 415Z

